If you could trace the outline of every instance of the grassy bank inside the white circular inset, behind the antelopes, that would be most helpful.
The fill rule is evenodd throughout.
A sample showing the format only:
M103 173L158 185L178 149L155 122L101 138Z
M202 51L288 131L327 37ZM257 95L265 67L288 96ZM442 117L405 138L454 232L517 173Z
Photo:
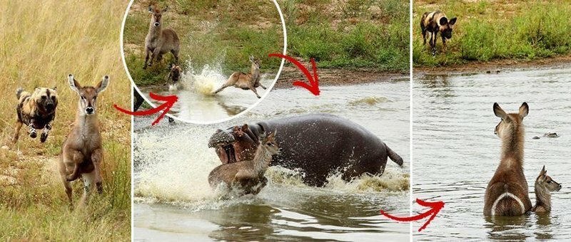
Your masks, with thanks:
M145 36L151 14L149 1L134 1L123 33L123 45L131 77L138 85L166 83L170 53L161 64L143 70ZM166 0L158 1L163 9L163 26L172 28L181 40L183 68L201 72L204 65L218 68L223 74L250 72L250 55L262 60L262 73L277 73L281 60L268 53L283 52L283 33L278 10L271 1Z

